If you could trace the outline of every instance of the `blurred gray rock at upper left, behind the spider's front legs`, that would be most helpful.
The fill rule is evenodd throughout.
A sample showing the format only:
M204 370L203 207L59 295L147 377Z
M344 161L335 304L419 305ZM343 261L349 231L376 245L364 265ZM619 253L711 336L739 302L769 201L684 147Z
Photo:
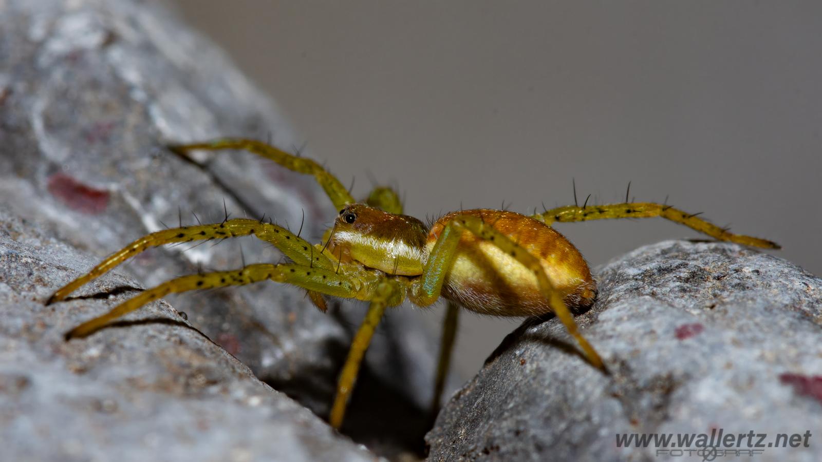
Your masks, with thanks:
M83 265L65 261L64 271L39 277L39 294L45 297L164 224L191 224L194 214L220 221L224 204L233 216L266 214L292 229L302 226L302 236L318 242L335 210L312 178L250 154L205 155L192 164L164 149L168 141L218 136L270 138L286 149L304 141L223 53L157 2L0 2L0 202L88 256ZM240 245L248 262L281 258L253 238L155 249L76 295L117 288L122 275L144 287L200 266L236 268ZM332 303L323 314L302 291L277 284L171 301L262 381L321 416L365 308ZM88 303L97 302L54 309L90 310L76 318L82 321L99 313ZM109 349L136 348L105 338ZM388 452L422 449L435 358L436 341L413 313L389 312L367 355L344 432L393 448ZM398 413L405 418L393 418ZM376 425L380 416L387 418Z

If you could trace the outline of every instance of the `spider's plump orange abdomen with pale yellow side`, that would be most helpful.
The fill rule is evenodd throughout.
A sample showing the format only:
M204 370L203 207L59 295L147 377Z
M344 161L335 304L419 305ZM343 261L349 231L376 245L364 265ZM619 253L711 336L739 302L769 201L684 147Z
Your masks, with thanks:
M580 251L547 224L502 210L464 210L438 219L428 234L431 249L443 226L454 216L478 216L494 229L538 257L571 309L589 307L596 298L596 283ZM457 245L454 264L446 273L442 295L463 307L492 316L537 316L551 312L536 276L493 243L465 231Z

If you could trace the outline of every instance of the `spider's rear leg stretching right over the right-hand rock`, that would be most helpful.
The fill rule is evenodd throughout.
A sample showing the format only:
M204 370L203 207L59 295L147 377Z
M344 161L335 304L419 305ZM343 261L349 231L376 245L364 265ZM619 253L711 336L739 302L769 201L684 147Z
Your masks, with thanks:
M720 241L728 241L750 247L782 248L778 243L767 239L729 233L727 229L720 228L716 224L697 217L697 215L699 214L689 214L682 210L675 209L672 206L653 202L625 202L621 204L608 204L606 206L557 207L556 209L546 210L541 214L531 215L531 218L538 219L550 226L555 221L574 222L587 221L589 219L653 218L658 216L664 219L670 219L679 224L684 224L690 229L708 234L710 237Z

